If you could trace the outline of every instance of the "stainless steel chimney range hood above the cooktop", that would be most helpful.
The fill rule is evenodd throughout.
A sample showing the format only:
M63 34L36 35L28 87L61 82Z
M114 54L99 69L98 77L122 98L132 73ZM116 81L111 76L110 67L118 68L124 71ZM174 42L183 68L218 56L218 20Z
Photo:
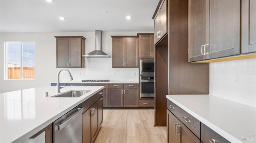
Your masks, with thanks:
M87 58L110 58L110 55L101 51L101 31L95 30L95 50L83 55Z

